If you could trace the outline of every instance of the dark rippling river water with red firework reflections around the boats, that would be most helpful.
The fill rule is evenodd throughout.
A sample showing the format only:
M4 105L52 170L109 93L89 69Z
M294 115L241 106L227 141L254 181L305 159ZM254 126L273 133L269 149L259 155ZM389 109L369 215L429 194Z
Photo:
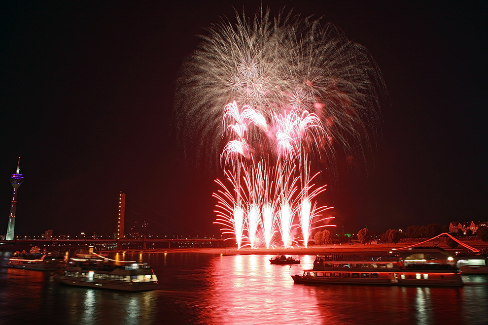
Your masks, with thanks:
M488 324L488 276L462 288L294 284L311 267L271 265L270 255L118 254L149 263L151 292L56 284L53 273L6 267L0 252L0 324Z

